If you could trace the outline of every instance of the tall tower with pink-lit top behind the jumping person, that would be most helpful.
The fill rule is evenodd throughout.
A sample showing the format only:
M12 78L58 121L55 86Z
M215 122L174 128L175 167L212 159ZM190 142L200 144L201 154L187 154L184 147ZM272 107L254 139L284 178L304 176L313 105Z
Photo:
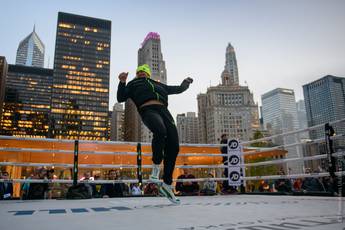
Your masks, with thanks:
M167 83L167 71L161 50L161 40L158 33L150 32L145 37L138 50L138 66L148 64L153 80ZM125 104L125 140L151 142L152 133L141 122L138 111L131 100Z

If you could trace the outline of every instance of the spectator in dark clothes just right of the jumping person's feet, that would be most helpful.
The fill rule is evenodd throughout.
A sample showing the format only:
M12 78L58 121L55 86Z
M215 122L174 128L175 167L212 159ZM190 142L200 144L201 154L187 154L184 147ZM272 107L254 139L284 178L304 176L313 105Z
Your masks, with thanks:
M185 164L185 166L187 166ZM191 173L189 173L189 170L187 168L183 169L183 174L180 175L177 179L195 179L195 176ZM177 182L176 183L176 192L179 193L179 195L198 195L199 193L199 184L198 182Z

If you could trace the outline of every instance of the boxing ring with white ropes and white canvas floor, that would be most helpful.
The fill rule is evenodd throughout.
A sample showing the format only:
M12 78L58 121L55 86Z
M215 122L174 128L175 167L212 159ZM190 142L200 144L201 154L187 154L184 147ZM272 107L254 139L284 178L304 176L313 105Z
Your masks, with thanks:
M345 127L345 119L330 125ZM312 173L292 173L287 175L243 175L243 184L248 182L276 179L323 178L332 175L342 178L345 170L344 134L325 138L297 141L274 147L250 147L253 143L265 142L279 137L297 135L323 128L318 125L303 130L292 131L253 141L241 142L245 151L241 167L248 169L258 166L284 165L289 162L311 162L324 159L331 163L336 159L335 171ZM337 143L334 148L329 144ZM320 144L325 153L312 156L290 157L286 149ZM77 150L76 150L77 146ZM177 159L177 169L205 169L222 171L228 167L222 164L220 144L182 144ZM53 140L0 136L0 166L7 167L55 167L75 168L73 156L78 154L77 169L135 169L134 178L119 180L81 181L71 179L23 179L13 178L13 183L147 183L142 171L151 168L149 143L99 142L73 140ZM277 153L284 158L259 162L245 162L250 156ZM278 152L274 152L278 151ZM48 156L42 159L42 156ZM102 156L102 161L97 161ZM122 156L126 156L123 158ZM287 156L287 157L286 157ZM94 162L90 164L89 161ZM210 160L212 159L212 160ZM109 163L110 162L110 163ZM207 162L208 164L195 164ZM211 162L211 163L210 163ZM188 163L188 165L185 165ZM15 175L14 175L15 177ZM221 173L214 178L200 177L183 179L181 182L226 181ZM6 181L6 180L0 180ZM339 180L341 182L341 180ZM339 182L338 182L339 183ZM341 191L341 186L338 187ZM310 194L272 195L245 192L236 195L182 196L181 205L173 205L163 197L123 197L86 200L5 200L0 201L0 229L344 229L345 199L341 192L333 196L310 196Z

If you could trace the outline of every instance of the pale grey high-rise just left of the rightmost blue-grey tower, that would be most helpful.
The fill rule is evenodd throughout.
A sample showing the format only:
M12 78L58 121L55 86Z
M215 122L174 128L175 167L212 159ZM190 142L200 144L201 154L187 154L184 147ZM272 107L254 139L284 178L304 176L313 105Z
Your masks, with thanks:
M265 128L271 134L281 134L288 131L298 130L297 108L295 92L292 89L277 88L261 96L262 116ZM284 136L273 140L275 144L287 145L299 142L300 134ZM300 146L286 148L289 157L301 157ZM288 167L294 173L303 170L303 163L289 162Z

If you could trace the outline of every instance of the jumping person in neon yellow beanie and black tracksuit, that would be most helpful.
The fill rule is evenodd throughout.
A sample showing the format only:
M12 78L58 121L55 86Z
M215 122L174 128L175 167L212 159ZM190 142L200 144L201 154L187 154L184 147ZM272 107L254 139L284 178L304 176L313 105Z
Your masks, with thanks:
M184 92L193 79L186 78L179 86L169 86L151 79L150 76L151 70L147 64L138 66L136 77L127 85L128 73L120 73L117 100L124 102L131 99L136 105L143 123L153 133L153 166L149 179L151 182L159 184L159 167L163 161L163 183L159 186L159 191L170 201L179 203L171 186L172 174L179 152L179 141L174 119L168 110L168 95Z

